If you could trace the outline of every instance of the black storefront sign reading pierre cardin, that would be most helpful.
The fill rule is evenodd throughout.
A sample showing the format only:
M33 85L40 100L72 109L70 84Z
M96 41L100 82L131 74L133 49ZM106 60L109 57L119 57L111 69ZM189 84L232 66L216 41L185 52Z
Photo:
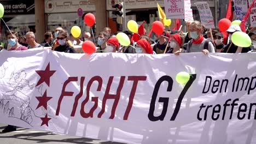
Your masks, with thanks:
M34 0L0 1L4 15L34 14Z

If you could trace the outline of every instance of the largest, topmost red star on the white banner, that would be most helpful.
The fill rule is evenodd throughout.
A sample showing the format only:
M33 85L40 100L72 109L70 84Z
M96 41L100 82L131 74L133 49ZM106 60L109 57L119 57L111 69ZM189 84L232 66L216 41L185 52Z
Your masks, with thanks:
M36 73L40 76L40 80L37 82L37 85L45 82L50 86L50 77L55 73L56 70L50 70L50 62L48 63L45 70L36 70Z

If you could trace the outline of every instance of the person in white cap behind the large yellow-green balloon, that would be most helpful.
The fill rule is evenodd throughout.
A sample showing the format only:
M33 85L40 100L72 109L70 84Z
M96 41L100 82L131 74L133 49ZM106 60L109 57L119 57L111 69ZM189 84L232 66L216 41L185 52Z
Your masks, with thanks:
M226 45L223 48L222 52L225 52L225 53L246 53L246 52L249 52L253 49L253 46L238 47L234 43L232 43L232 40L231 40L232 34L237 32L237 31L241 31L241 28L238 25L231 25L229 27L229 29L226 30L226 32L229 33L229 44Z

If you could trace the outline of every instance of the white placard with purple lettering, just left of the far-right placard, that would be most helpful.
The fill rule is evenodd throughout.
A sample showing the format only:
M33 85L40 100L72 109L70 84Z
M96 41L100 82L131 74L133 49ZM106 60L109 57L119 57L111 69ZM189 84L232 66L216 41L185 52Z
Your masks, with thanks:
M245 17L246 12L248 10L247 0L235 0L234 8L235 8L235 19L242 21L243 17Z

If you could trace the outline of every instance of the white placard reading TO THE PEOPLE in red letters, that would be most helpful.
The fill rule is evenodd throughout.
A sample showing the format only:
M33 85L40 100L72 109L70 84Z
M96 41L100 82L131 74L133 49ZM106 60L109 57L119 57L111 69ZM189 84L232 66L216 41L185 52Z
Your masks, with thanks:
M166 19L185 19L184 1L165 0Z

